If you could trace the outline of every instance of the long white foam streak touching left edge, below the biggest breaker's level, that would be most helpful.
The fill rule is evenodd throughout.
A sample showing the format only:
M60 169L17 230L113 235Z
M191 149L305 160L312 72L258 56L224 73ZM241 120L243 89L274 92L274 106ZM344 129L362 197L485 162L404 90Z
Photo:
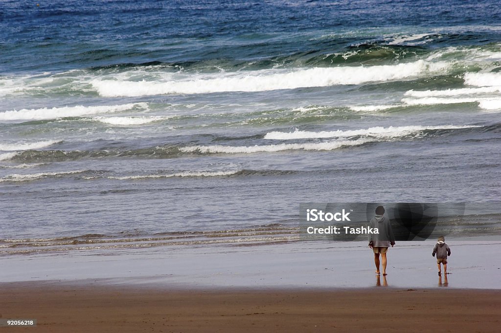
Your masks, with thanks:
M147 108L147 103L129 103L122 105L102 106L65 106L42 109L22 109L0 112L0 120L41 120L61 117L79 117L98 113L113 113L132 109L134 107Z

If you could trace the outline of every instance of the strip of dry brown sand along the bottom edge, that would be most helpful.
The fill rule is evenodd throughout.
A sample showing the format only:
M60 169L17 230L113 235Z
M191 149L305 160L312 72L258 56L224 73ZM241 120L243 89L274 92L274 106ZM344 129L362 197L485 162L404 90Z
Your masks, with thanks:
M168 290L0 284L3 318L37 332L499 332L501 290Z

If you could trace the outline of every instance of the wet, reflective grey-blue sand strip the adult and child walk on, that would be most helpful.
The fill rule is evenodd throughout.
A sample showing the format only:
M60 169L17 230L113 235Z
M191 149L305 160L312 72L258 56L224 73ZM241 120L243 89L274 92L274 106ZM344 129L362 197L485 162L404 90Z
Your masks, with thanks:
M349 245L349 247L346 247ZM374 274L365 242L304 242L256 247L143 249L133 252L0 258L0 282L60 281L195 289L395 288L499 289L499 243L451 243L448 281L437 275L434 242L389 249L388 276ZM481 279L478 277L482 276ZM53 281L53 282L50 282ZM386 282L385 282L386 281Z

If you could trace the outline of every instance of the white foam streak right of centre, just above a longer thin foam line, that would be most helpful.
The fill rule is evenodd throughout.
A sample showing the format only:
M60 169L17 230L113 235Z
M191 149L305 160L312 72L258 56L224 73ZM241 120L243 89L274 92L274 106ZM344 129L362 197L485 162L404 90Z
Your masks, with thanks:
M460 129L479 126L390 126L390 127L370 127L367 129L356 130L336 130L336 131L300 131L294 132L270 132L265 135L265 139L273 140L294 140L294 139L310 139L310 138L330 138L330 137L350 137L355 135L370 136L376 138L394 138L406 136L413 133L419 133L427 129Z

